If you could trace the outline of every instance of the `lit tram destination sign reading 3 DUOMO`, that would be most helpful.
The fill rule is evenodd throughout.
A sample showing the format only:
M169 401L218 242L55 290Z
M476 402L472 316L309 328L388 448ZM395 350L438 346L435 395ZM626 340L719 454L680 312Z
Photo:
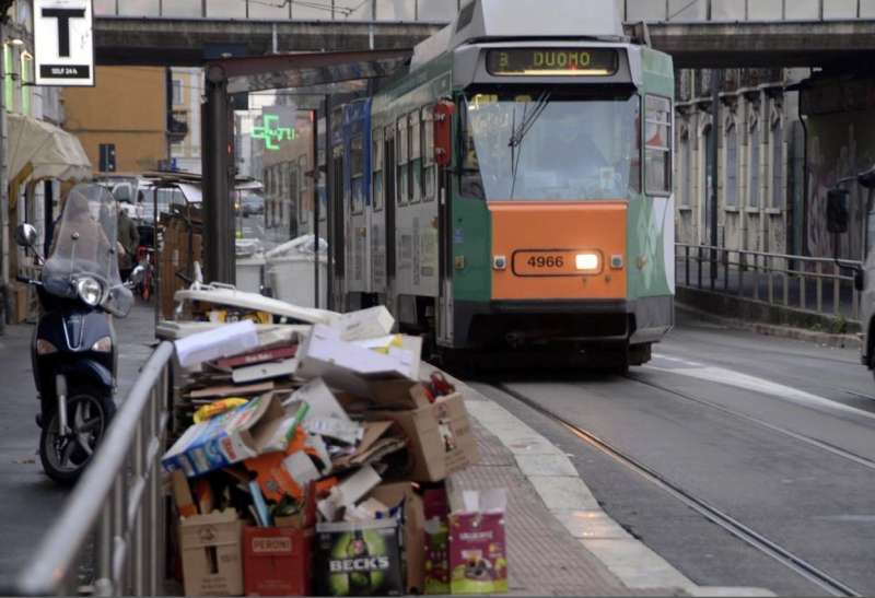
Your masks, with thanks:
M619 63L610 48L508 48L486 56L490 74L511 77L610 77Z

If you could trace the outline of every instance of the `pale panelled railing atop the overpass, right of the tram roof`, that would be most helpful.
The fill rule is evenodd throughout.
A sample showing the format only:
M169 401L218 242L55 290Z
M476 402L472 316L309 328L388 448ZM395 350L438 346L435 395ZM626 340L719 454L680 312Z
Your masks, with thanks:
M827 19L872 17L872 9L863 0L817 0L802 5L797 0L766 4L761 0L621 0L623 20L702 22L702 21L824 21ZM654 5L658 5L654 10ZM665 10L663 10L663 8ZM692 15L692 16L690 16Z

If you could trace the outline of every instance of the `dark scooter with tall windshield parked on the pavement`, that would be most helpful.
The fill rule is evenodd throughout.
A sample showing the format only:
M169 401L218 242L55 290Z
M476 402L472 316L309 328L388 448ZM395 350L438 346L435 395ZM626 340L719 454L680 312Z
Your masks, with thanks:
M20 280L36 288L42 307L32 344L39 457L46 474L65 484L79 479L115 413L110 315L125 317L133 302L118 274L115 199L94 187L70 191L47 259L34 250L33 226L15 231L16 243L43 266L39 280ZM140 275L135 271L131 280Z

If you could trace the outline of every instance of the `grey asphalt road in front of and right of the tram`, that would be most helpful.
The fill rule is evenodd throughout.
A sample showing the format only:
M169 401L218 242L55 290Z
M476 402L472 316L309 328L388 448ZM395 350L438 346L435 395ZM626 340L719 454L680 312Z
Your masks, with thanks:
M681 318L628 377L493 373L474 386L561 446L605 511L698 584L825 594L512 395L875 594L875 382L855 350Z

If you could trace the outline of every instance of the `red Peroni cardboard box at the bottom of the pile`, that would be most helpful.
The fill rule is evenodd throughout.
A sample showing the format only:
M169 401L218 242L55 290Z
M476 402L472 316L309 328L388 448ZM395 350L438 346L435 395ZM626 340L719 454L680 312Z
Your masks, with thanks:
M310 596L312 529L245 527L243 572L247 596Z

